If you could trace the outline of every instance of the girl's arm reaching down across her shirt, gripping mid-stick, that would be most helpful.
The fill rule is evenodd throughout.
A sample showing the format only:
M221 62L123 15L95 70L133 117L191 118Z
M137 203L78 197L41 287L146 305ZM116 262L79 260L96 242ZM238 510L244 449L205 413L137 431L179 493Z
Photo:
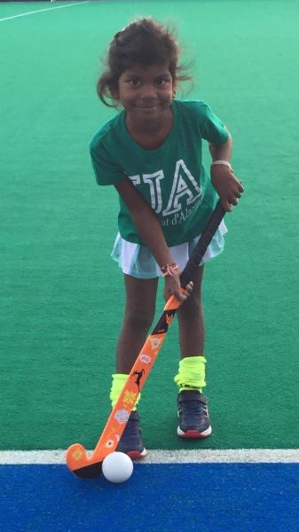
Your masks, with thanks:
M152 252L159 266L161 267L164 264L174 262L156 214L136 187L130 182L130 179L122 181L121 184L115 184L115 188L128 207L140 238ZM173 294L179 301L185 301L186 296L192 290L192 284L186 287L186 295L180 292L179 287L178 273L173 277L166 277L164 289L165 299L168 300L170 295Z

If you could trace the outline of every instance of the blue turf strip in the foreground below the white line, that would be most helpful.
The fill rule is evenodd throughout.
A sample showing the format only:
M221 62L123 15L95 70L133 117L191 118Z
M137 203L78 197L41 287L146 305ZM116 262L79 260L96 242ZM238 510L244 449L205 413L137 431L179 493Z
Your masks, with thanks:
M5 532L299 530L299 464L135 465L130 481L0 466Z

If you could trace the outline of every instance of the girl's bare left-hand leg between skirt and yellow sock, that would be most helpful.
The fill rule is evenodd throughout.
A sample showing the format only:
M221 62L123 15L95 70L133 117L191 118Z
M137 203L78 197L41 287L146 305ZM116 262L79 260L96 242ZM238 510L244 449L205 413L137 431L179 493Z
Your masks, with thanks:
M154 317L158 278L124 276L125 314L116 350L116 372L129 374Z

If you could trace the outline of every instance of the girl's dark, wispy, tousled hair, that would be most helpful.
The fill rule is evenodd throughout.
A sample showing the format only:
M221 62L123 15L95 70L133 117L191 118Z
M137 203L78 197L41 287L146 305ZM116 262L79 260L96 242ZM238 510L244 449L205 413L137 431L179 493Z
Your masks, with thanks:
M175 85L181 81L191 81L186 74L188 66L178 65L180 48L174 30L162 26L151 17L135 20L114 35L106 58L106 71L100 75L97 92L100 100L109 107L118 106L114 94L118 90L118 80L124 70L132 65L169 67ZM109 103L106 98L114 100Z

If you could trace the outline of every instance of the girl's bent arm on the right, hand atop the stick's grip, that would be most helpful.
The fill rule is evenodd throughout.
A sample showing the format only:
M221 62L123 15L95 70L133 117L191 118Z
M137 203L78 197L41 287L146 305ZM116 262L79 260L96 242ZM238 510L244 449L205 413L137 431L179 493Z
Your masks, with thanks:
M232 155L231 135L223 145L209 144L209 152L213 160L229 162ZM231 211L232 205L237 205L241 193L244 192L240 180L234 175L232 168L219 164L211 167L211 181L224 208Z

